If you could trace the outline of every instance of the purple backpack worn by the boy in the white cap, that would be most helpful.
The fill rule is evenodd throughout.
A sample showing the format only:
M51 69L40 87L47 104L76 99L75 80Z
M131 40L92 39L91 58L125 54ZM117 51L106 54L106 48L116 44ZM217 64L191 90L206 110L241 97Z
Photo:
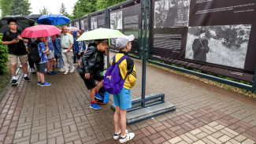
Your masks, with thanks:
M109 92L109 94L118 94L124 87L124 81L128 73L125 76L125 78L122 79L118 65L125 58L128 58L128 56L123 56L120 58L119 61L116 62L116 56L113 56L112 65L106 71L104 81L103 81L103 86L105 90Z

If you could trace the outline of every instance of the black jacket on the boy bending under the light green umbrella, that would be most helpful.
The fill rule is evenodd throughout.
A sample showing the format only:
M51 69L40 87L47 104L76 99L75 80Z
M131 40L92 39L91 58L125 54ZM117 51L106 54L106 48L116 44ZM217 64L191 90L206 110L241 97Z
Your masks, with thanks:
M95 71L104 71L104 52L97 49L97 45L90 44L83 54L80 68L78 72L84 75L85 73L91 73Z

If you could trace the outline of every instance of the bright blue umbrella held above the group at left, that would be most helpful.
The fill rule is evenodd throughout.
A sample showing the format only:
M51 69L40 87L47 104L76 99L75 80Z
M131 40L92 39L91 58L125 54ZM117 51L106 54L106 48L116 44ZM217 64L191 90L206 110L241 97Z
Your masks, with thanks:
M50 24L50 25L60 25L69 23L70 19L68 17L62 16L61 14L49 14L46 16L39 17L36 21L38 24Z

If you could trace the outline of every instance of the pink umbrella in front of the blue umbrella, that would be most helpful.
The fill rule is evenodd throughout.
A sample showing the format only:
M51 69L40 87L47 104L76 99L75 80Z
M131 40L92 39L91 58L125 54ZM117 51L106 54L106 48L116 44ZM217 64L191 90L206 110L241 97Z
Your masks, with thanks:
M20 36L25 38L38 38L56 35L59 33L61 33L61 31L54 25L36 25L33 27L25 28Z

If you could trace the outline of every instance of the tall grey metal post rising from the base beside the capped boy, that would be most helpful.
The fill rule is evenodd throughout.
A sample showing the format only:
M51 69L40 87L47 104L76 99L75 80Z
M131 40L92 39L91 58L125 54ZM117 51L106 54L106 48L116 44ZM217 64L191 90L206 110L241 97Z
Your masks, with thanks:
M144 29L144 38L143 38L143 81L142 81L142 107L145 108L145 93L146 93L146 66L147 66L147 12L148 12L148 0L144 0L143 6L143 29Z

